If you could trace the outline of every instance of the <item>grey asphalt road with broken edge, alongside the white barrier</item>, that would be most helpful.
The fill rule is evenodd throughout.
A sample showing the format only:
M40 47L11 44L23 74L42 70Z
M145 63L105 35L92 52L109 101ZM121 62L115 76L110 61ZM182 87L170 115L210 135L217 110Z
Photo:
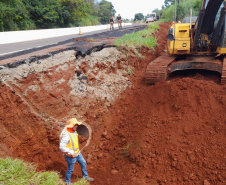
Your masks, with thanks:
M124 34L129 34L132 32L136 32L142 30L146 27L146 24L134 24L131 26L123 27L122 29L115 28L115 30L101 30L95 32L84 33L82 35L74 34L67 35L63 37L54 37L49 39L40 39L34 41L20 42L20 43L12 43L12 44L3 44L0 45L0 65L8 63L10 58L21 58L23 55L25 57L29 57L28 54L39 51L39 56L42 55L42 50L56 50L55 48L67 49L67 48L75 48L77 51L80 51L81 55L85 55L89 52L90 49L95 47L96 45L101 45L101 43L90 43L87 42L86 39L100 40L106 38L117 38L122 37ZM75 42L75 40L78 40ZM105 45L106 43L102 43ZM44 53L44 52L43 52ZM19 57L20 56L20 57ZM34 55L33 55L34 56ZM7 61L3 61L6 60ZM14 62L14 61L12 61Z

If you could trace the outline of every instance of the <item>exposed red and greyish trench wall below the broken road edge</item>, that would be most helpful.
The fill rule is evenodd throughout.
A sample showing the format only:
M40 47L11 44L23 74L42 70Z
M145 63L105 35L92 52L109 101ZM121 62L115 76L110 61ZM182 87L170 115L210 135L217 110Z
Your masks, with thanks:
M94 124L86 118L104 114L131 86L123 57L115 48L78 59L76 51L68 50L2 69L0 157L65 170L58 148L61 130L71 117Z

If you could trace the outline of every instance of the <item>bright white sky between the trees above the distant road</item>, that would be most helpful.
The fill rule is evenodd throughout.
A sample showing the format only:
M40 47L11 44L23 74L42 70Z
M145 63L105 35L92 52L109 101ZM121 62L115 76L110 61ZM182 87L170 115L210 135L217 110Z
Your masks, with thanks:
M164 5L164 0L107 0L112 3L116 15L120 14L123 19L133 19L137 13L144 16L150 14L154 9L159 10Z

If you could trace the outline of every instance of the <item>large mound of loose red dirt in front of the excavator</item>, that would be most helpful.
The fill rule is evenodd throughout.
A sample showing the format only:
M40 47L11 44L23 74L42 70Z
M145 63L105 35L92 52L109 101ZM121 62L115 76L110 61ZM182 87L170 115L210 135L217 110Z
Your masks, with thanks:
M94 130L89 149L92 184L226 183L226 86L199 74L144 83L147 63L166 50L168 27L159 29L155 56L143 48L145 59L130 58L133 88L98 119L102 134Z

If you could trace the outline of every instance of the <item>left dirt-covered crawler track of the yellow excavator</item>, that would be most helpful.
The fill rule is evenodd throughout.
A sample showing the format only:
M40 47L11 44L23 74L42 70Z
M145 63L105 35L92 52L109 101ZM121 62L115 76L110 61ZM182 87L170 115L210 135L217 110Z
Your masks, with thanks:
M159 81L167 79L167 67L175 60L172 56L160 56L150 62L146 68L145 82L147 84L156 84Z

